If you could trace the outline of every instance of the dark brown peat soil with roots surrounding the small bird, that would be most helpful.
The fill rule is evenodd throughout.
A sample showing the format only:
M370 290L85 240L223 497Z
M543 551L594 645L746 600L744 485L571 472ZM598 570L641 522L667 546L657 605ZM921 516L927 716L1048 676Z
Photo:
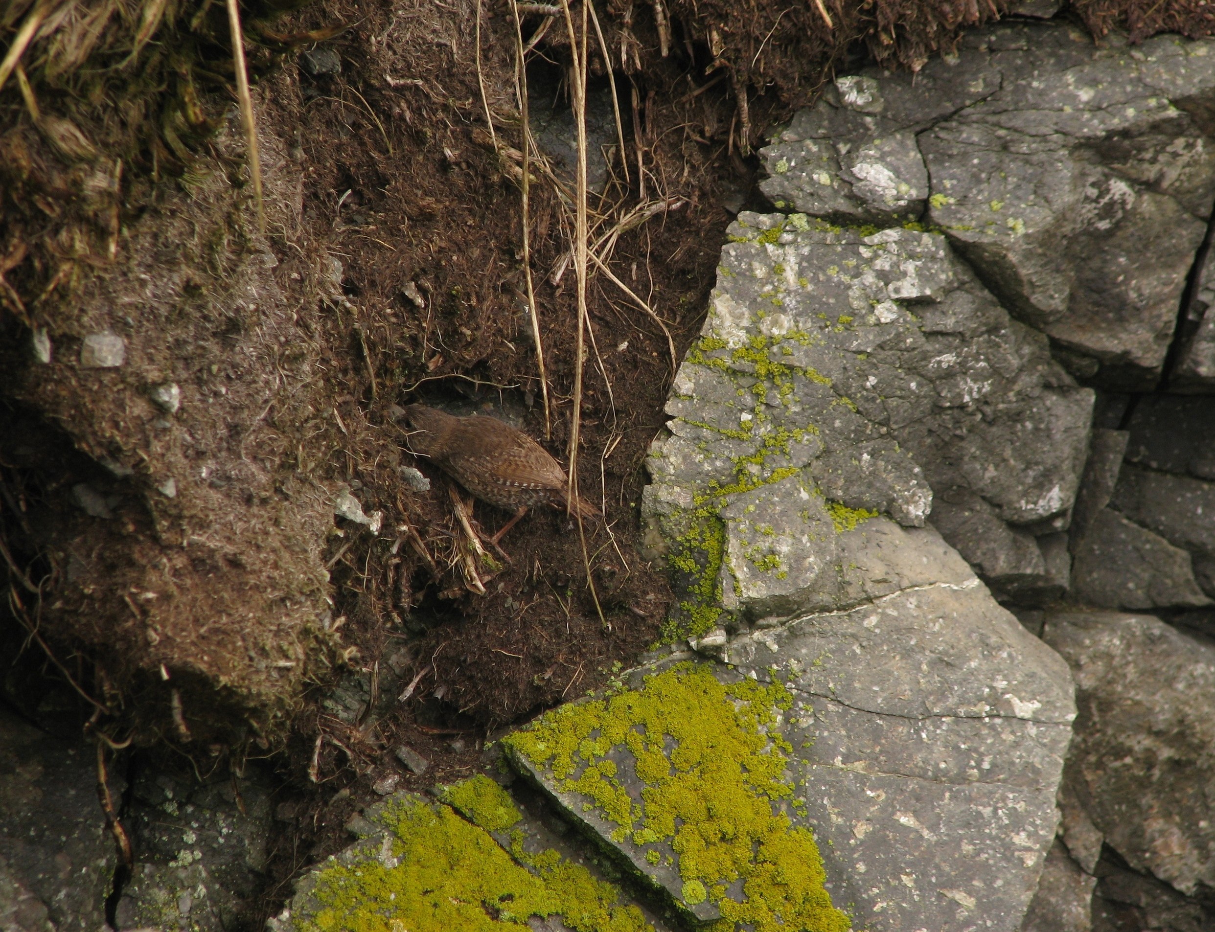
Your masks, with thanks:
M632 663L659 638L668 609L665 567L638 550L643 461L665 422L671 346L604 276L592 276L587 294L578 451L581 493L604 519L584 523L584 537L564 513L533 510L503 538L501 569L481 569L486 593L470 592L452 484L408 452L396 422L396 408L419 400L504 413L567 462L577 343L570 213L554 183L531 186L546 434L520 191L486 131L481 96L484 83L496 134L518 149L514 27L498 5L481 17L480 75L475 4L328 2L293 24L351 23L328 43L340 73L289 67L295 73L287 84L298 96L278 102L294 124L279 132L295 140L305 173L306 233L296 248L323 249L341 264L343 295L322 316L321 358L340 435L322 471L346 481L363 509L382 510L384 527L399 533L391 552L351 525L330 540L334 615L357 646L355 670L384 671L386 680L391 667L394 688L411 683L413 690L371 722L344 723L320 701L299 717L278 762L288 819L272 843L273 882L254 922L281 906L284 883L303 865L346 843L341 826L375 798L377 780L395 773L400 786L423 790L471 774L496 730L593 690ZM536 26L525 21L525 39ZM620 236L611 269L665 320L682 357L716 278L731 219L725 205L744 205L755 169L734 143L728 83L706 87L695 47L691 57L684 49L662 58L657 38L650 44L644 74L617 75L629 181L615 146L606 193L593 194L590 207L609 216L601 231L638 204L661 207ZM532 100L550 94L558 108L569 106L567 56L538 47L529 69ZM590 72L603 86L603 61L593 56ZM428 492L402 481L400 469L409 467L429 478ZM508 516L473 507L486 535ZM329 688L320 685L316 699ZM401 745L426 757L430 769L417 776L401 766L391 753Z

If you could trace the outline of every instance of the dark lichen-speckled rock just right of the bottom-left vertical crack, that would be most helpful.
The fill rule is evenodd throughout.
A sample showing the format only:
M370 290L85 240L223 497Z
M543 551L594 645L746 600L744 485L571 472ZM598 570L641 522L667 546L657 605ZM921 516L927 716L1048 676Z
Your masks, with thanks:
M266 881L273 819L266 775L247 768L243 779L202 785L156 772L136 779L128 820L136 863L119 928L221 932L247 917Z

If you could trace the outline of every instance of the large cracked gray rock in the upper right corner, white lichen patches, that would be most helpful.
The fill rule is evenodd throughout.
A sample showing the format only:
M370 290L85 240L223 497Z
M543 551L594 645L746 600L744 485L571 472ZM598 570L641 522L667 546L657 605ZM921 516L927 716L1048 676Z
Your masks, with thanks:
M1213 52L1171 35L1097 49L1055 23L976 30L915 75L841 79L763 149L761 187L782 209L940 227L1078 372L1151 386L1215 193ZM1179 375L1205 384L1198 312Z

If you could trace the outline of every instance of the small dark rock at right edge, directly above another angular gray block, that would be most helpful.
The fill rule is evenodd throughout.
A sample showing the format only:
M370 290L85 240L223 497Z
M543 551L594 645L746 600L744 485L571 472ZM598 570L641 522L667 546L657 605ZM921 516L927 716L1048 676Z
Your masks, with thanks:
M1111 507L1188 550L1196 567L1215 560L1215 482L1128 465Z

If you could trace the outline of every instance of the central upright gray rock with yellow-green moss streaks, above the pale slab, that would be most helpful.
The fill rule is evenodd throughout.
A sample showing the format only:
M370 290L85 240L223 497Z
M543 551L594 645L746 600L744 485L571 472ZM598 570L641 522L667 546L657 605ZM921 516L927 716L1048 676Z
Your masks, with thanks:
M922 526L936 493L981 499L1004 537L1024 538L1017 567L993 563L993 577L1056 584L1016 529L1066 526L1092 391L1041 334L939 235L746 213L729 235L667 403L671 435L649 461L645 515L677 558L717 574L736 615L843 606L860 578L841 559L858 521ZM706 521L724 525L717 565L686 553ZM954 524L942 530L983 563Z

